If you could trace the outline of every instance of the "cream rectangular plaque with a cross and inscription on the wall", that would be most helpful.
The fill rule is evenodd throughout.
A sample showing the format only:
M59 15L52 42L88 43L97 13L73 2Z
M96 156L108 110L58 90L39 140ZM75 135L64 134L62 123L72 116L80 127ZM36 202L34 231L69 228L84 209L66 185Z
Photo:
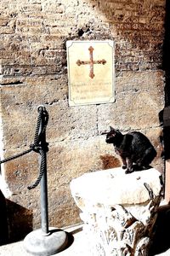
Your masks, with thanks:
M69 105L115 101L114 42L67 41Z

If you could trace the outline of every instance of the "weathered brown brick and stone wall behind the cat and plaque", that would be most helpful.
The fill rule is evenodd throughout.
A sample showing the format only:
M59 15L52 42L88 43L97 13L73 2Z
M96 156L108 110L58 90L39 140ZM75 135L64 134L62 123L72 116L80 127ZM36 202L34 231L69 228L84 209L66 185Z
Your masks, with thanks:
M1 155L29 148L37 106L49 113L47 129L49 224L75 224L78 210L69 189L73 177L120 166L102 131L146 134L158 152L153 166L163 172L159 113L164 107L161 67L165 0L3 0L0 10ZM116 43L116 102L68 106L65 42L111 39ZM2 166L9 233L28 218L40 226L37 154ZM10 206L10 202L12 206ZM16 205L16 207L14 207ZM18 212L18 206L25 209ZM24 216L24 217L23 217ZM8 218L9 218L8 217ZM15 217L15 218L14 218ZM26 230L26 229L25 229Z

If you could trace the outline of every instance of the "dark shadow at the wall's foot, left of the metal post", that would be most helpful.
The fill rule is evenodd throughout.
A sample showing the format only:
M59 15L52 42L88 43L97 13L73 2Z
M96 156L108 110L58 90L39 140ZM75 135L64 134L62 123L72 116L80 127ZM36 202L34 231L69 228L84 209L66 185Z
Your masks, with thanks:
M20 241L32 230L32 211L6 200L0 191L0 246Z

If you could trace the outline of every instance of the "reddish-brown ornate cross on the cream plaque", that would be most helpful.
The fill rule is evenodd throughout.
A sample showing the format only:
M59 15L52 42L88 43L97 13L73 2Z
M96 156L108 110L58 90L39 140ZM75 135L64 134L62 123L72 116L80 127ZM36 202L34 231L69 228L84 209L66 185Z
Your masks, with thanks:
M94 54L93 54L94 48L92 46L90 46L88 48L88 50L89 50L89 54L90 54L90 60L89 61L80 61L80 60L78 60L77 65L81 66L81 65L89 64L90 65L89 77L91 79L94 79L94 64L103 64L103 65L105 65L106 61L104 59L101 60L101 61L94 61Z

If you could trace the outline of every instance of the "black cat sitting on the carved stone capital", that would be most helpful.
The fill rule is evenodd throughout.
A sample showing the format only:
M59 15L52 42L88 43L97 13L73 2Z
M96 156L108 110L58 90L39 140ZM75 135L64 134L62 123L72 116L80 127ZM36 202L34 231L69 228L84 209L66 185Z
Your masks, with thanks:
M150 163L156 157L156 150L150 140L139 131L131 131L125 135L114 128L106 132L106 143L112 143L116 154L122 158L122 168L126 173L150 168ZM133 164L135 164L133 166Z

